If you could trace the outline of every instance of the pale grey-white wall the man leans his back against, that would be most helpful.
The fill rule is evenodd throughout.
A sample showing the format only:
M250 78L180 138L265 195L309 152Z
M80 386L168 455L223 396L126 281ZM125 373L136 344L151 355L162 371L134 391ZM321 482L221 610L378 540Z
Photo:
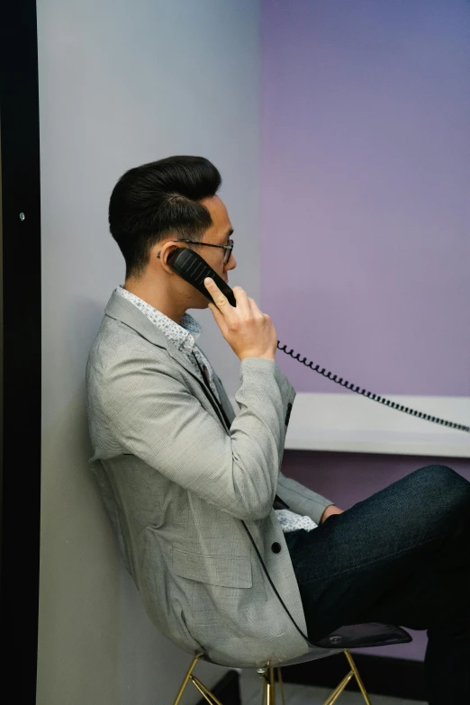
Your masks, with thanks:
M38 705L167 705L190 656L150 624L88 473L86 356L121 253L117 178L171 154L220 168L233 284L258 299L258 0L39 0L42 508ZM239 361L212 313L203 349L229 393ZM198 667L209 685L224 669ZM194 689L193 689L194 690ZM196 691L186 705L199 700Z

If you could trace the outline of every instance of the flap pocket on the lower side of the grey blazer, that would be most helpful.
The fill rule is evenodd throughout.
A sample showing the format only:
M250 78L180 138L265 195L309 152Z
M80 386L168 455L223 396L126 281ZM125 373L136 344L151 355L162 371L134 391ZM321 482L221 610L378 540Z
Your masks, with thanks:
M211 556L173 548L173 570L197 583L237 588L253 584L251 563L246 556Z

